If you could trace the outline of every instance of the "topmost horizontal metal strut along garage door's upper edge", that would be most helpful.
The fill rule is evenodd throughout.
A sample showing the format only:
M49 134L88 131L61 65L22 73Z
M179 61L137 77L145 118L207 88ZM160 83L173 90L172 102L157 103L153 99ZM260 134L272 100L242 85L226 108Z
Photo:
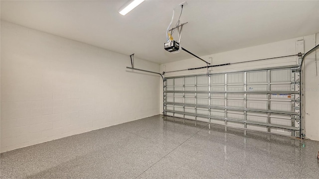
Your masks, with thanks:
M260 69L233 70L233 71L225 71L225 72L213 72L213 73L209 73L209 75L222 75L222 74L229 74L229 73L256 72L256 71L267 71L267 70L282 70L282 69L291 69L291 68L299 68L299 67L300 67L299 65L291 65L291 66L260 68ZM207 76L207 73L206 74L199 74L199 75L183 75L183 76L165 77L165 79L182 78L182 77L195 77L195 76L197 76L197 77Z

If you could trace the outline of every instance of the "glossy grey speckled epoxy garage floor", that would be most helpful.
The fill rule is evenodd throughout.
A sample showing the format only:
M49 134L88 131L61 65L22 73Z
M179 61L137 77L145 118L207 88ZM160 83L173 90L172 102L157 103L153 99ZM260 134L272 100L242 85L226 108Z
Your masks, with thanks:
M0 155L0 178L313 178L319 142L152 116Z

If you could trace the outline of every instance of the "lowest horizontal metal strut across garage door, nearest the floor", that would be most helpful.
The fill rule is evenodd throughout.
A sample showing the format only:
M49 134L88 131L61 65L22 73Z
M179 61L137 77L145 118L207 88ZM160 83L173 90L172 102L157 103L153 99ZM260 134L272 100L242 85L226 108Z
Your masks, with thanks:
M276 124L267 124L267 123L262 123L262 122L254 122L254 121L245 121L245 120L239 120L239 119L232 119L232 118L225 118L225 117L215 117L215 116L209 116L209 115L203 115L203 114L193 114L193 113L188 113L188 112L181 112L181 111L173 111L173 110L164 110L165 112L172 112L172 113L177 113L177 114L185 114L185 115L190 115L190 116L197 116L197 117L204 117L204 118L210 118L210 119L216 119L216 120L222 120L222 121L231 121L231 122L238 122L238 123L246 123L246 124L254 124L254 125L262 125L262 126L267 126L267 127L275 127L275 128L280 128L280 129L288 129L288 130L294 130L294 131L299 131L299 128L297 127L291 127L291 126L282 126L282 125L276 125ZM196 120L199 121L199 120ZM200 122L205 122L205 121L200 121ZM206 122L206 123L211 123L211 122ZM246 128L244 128L246 129Z

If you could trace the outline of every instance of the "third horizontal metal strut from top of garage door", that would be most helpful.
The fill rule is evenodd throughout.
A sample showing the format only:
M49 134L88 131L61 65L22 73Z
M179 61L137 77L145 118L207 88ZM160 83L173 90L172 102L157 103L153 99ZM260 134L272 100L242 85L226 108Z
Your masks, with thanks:
M224 107L224 106L214 106L214 105L202 105L202 104L184 104L177 102L164 102L164 104L173 104L181 106L191 106L191 107L202 107L202 108L212 108L212 109L227 109L235 111L247 111L247 112L262 112L262 113L272 113L272 114L288 114L288 115L298 115L298 112L289 112L289 111L272 111L272 110L257 110L257 109L248 109L248 108L239 108L239 107Z

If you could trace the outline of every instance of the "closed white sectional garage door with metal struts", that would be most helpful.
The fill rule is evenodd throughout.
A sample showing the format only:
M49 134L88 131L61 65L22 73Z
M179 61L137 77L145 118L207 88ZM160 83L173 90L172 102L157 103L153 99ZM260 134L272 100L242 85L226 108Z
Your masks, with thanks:
M299 77L297 66L168 77L164 115L300 137Z

